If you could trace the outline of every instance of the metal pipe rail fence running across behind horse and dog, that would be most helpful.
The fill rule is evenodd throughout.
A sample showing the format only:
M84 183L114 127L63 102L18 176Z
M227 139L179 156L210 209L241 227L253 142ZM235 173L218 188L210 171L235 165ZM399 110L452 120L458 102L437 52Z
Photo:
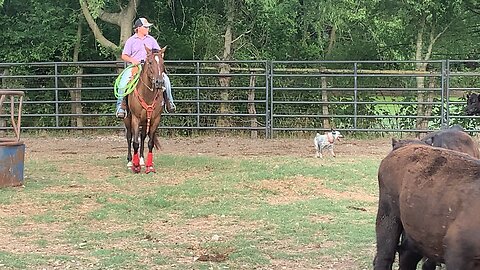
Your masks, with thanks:
M330 127L426 132L461 124L480 91L479 61L167 61L177 112L163 130L231 130L274 137ZM418 71L422 65L425 71ZM23 129L119 129L113 81L124 64L0 63L1 89L25 92ZM0 131L9 128L0 108Z

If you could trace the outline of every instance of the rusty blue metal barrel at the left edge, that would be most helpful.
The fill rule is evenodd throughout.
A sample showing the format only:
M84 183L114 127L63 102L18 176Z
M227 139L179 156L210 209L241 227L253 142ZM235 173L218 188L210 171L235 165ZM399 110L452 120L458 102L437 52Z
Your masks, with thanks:
M0 141L0 187L23 185L25 144Z

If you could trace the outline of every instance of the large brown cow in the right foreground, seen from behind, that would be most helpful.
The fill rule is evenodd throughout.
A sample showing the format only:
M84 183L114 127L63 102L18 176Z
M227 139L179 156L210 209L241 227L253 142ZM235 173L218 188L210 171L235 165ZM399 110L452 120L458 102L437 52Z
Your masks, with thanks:
M378 182L375 270L392 269L402 230L447 269L480 269L480 160L406 144L382 160Z

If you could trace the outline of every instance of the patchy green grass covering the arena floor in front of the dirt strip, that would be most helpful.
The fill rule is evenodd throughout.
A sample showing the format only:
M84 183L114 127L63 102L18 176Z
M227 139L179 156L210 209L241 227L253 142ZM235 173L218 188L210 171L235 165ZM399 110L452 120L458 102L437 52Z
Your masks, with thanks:
M378 158L162 155L151 175L100 160L69 159L69 165L104 168L99 175L88 166L67 174L63 162L27 160L25 187L0 193L4 209L12 209L0 226L8 228L5 239L17 241L0 252L2 267L371 265ZM353 193L358 196L349 198ZM205 253L227 258L195 260Z

